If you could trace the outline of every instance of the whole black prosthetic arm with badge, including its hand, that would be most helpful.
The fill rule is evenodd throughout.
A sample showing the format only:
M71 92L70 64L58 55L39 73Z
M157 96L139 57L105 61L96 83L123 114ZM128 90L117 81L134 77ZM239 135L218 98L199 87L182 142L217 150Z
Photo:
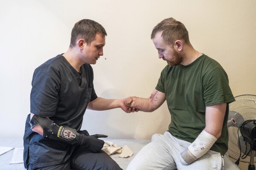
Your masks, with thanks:
M77 131L73 128L59 126L54 121L38 115L33 115L29 124L31 126L31 129L36 125L41 126L44 130L44 138L62 141L68 144L85 146L94 153L99 152L104 144L103 140L97 138L107 137L106 135L87 136L84 133L77 133Z

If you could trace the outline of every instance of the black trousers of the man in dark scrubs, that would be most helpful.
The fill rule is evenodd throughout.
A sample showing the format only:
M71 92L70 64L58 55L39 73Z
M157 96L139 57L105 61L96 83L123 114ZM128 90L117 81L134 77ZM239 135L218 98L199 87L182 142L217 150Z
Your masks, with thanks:
M86 147L76 147L68 161L29 170L122 170L121 167L103 150L92 153Z

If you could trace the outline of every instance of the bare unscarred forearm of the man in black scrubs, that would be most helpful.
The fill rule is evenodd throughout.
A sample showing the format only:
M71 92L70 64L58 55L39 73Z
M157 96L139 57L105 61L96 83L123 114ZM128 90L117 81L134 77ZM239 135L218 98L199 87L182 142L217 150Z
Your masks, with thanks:
M94 101L88 103L87 109L91 110L109 110L121 107L121 102L123 99L106 99L106 98L96 98Z

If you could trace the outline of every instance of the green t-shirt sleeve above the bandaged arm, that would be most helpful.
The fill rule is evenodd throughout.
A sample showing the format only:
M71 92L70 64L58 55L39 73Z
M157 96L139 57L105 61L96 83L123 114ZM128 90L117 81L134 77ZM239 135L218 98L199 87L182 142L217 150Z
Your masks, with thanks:
M216 68L209 73L203 85L203 98L205 106L235 101L223 69Z

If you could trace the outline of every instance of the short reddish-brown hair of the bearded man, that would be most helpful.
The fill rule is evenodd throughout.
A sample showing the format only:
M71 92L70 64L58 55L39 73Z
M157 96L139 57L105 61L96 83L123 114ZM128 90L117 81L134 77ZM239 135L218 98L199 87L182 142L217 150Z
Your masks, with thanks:
M173 45L176 40L183 40L184 43L190 43L188 30L184 24L172 17L162 20L153 28L151 39L153 39L158 32L162 32L163 40L169 45Z

